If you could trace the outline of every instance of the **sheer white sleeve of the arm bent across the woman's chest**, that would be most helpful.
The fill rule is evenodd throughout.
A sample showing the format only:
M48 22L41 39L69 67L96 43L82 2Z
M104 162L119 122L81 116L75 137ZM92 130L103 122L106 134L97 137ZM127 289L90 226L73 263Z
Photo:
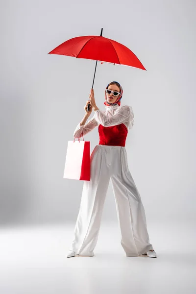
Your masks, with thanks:
M109 117L105 115L102 111L96 110L94 114L95 120L98 124L102 124L103 126L112 126L120 123L129 123L132 127L133 125L133 112L132 107L128 105L122 106L118 112L116 112L113 116Z

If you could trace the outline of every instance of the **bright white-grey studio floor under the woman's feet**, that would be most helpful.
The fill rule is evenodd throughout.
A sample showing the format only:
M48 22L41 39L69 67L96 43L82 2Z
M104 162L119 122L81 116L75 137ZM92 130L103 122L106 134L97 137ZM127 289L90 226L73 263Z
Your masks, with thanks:
M0 229L0 294L195 294L194 225L150 224L157 258L126 257L101 223L94 257L67 258L74 223Z

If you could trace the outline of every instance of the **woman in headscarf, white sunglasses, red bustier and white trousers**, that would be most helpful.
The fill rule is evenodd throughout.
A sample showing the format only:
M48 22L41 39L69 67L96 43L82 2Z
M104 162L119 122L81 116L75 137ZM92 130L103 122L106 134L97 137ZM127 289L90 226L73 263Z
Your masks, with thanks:
M67 257L76 254L94 256L110 178L121 228L121 245L126 256L156 257L149 243L144 206L128 169L125 141L128 128L133 126L134 115L131 106L120 106L122 96L123 88L118 82L108 84L104 102L106 110L101 111L91 89L90 100L84 106L86 114L73 133L74 138L80 138L98 126L99 144L91 154L91 178L84 181L74 240ZM86 123L92 111L94 117Z

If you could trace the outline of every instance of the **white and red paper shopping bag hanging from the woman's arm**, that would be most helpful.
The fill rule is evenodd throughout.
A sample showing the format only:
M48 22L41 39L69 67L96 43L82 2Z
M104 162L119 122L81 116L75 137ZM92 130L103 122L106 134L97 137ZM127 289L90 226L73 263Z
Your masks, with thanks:
M68 141L63 178L90 181L90 141L80 138Z

